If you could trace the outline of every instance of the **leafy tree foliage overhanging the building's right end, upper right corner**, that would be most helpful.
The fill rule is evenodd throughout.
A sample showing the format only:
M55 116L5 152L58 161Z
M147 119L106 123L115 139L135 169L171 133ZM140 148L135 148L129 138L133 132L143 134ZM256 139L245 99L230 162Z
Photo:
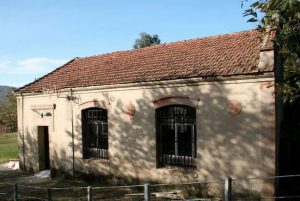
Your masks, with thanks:
M247 1L247 0L244 0ZM261 19L258 12L264 15ZM275 31L274 42L283 65L283 79L276 86L277 94L284 102L300 98L300 1L258 0L244 13L250 16L248 22L258 22L258 28Z

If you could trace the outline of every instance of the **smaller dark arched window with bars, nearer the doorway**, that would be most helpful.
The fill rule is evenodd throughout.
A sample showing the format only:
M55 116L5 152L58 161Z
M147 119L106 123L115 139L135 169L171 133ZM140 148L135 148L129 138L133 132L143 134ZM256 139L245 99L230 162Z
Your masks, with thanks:
M93 107L81 115L83 158L108 159L107 110Z

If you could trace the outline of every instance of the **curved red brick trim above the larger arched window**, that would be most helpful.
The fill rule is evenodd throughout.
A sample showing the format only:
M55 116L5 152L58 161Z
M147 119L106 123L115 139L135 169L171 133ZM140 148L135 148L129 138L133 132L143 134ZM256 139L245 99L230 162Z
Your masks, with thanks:
M164 97L164 98L161 98L158 100L154 100L153 104L154 104L155 109L164 107L167 105L174 105L174 104L197 107L199 101L200 101L200 99L189 98L189 97L185 97L185 96L171 96L171 97Z

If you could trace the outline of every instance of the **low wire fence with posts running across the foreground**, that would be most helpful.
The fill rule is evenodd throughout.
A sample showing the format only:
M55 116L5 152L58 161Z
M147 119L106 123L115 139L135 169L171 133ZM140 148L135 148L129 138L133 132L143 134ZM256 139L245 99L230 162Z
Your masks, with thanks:
M280 186L294 184L295 191ZM45 188L0 183L0 200L12 201L300 201L300 175L250 177L178 184ZM290 188L290 187L289 187ZM285 194L284 194L285 193Z

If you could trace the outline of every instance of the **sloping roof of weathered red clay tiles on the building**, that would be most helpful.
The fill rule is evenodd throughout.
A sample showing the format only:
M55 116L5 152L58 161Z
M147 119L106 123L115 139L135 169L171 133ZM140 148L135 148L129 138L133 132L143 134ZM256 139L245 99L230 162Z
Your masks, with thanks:
M260 51L272 49L261 44L260 32L250 30L75 58L18 91L256 74Z

